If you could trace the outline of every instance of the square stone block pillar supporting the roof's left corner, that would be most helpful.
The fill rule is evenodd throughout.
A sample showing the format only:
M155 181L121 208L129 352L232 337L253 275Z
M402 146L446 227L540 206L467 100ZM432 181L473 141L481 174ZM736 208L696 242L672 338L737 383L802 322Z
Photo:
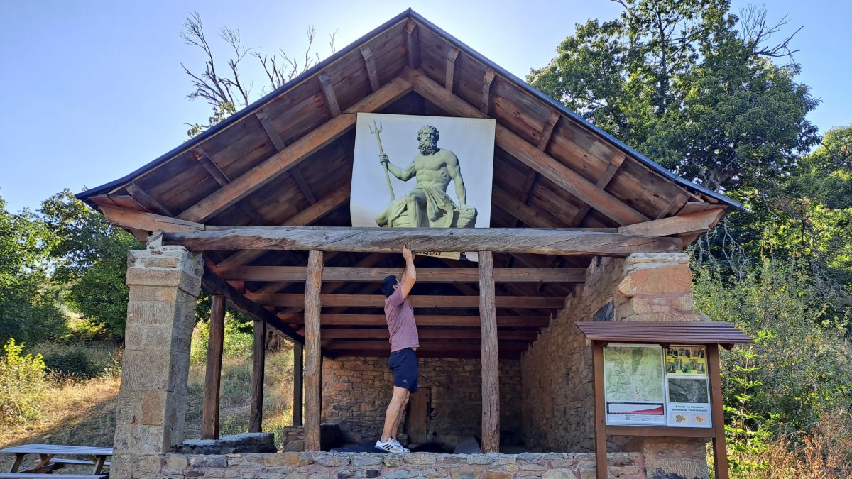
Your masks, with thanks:
M204 264L199 253L164 246L130 251L127 328L110 476L157 476L183 441L189 343Z

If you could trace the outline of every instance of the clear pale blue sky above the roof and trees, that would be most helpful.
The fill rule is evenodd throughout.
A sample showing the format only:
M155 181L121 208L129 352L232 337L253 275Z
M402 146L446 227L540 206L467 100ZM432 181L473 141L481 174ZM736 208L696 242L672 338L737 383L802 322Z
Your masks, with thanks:
M734 1L734 12L746 4ZM823 132L852 123L852 3L766 4L770 20L789 15L789 32L804 26L793 43L799 81L822 101L811 121ZM63 188L112 181L185 141L185 123L209 115L204 101L187 99L181 69L203 66L200 50L178 37L193 11L211 42L222 26L239 28L245 45L268 54L301 55L313 25L325 57L332 32L342 49L408 7L520 78L547 64L574 24L613 18L620 8L607 0L0 0L0 196L9 211L35 209ZM263 81L254 78L256 99Z

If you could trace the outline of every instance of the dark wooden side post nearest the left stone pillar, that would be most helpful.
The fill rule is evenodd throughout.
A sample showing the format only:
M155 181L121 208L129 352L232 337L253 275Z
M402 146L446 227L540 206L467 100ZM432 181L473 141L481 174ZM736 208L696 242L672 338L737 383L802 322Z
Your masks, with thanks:
M219 439L219 389L222 381L222 345L225 341L225 297L210 297L210 337L204 371L204 407L201 439Z

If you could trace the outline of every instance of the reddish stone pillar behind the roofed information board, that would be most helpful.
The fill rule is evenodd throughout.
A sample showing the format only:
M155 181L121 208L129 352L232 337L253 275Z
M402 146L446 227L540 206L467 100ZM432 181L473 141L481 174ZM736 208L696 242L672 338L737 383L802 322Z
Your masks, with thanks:
M682 253L643 253L625 258L614 295L615 320L708 320L694 311L689 258ZM648 476L705 478L705 439L635 437Z

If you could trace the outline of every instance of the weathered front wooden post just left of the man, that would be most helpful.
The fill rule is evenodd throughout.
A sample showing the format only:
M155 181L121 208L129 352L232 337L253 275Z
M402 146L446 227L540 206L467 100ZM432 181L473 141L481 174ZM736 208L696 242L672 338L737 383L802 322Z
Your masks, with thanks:
M308 253L305 281L305 451L320 450L322 414L322 351L320 350L320 286L322 251Z

